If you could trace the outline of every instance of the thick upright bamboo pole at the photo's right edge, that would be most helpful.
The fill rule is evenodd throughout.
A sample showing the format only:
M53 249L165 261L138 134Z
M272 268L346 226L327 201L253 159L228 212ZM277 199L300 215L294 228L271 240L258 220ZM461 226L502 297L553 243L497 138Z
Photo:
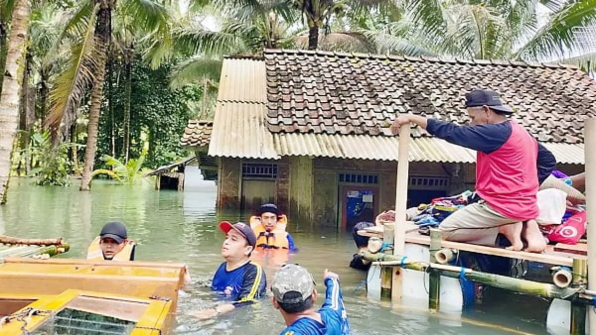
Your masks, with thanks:
M596 118L585 120L584 154L586 166L586 204L588 215L588 290L596 290ZM596 312L588 309L589 328L596 332Z

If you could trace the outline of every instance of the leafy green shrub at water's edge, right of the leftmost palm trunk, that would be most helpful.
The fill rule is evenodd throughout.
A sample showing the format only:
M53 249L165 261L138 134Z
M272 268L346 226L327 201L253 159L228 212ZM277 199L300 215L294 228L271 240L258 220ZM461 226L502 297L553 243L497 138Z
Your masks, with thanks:
M33 132L30 145L21 151L23 159L31 163L29 176L35 177L37 185L70 185L69 175L72 172L72 161L69 149L73 145L63 142L58 147L52 145L48 131Z

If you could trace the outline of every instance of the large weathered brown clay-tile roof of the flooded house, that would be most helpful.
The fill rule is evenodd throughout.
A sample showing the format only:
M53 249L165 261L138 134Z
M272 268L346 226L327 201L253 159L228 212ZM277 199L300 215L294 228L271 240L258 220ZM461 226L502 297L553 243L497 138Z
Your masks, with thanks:
M464 123L474 88L498 91L542 142L581 143L583 120L596 116L596 82L573 66L280 49L264 57L274 134L389 136L398 112Z

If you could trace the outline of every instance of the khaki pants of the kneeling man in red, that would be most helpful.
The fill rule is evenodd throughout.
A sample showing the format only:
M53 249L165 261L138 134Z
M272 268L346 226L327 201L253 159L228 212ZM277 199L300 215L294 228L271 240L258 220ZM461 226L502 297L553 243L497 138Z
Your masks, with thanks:
M439 229L443 240L493 247L499 227L516 222L519 220L502 216L480 200L449 215L441 222Z

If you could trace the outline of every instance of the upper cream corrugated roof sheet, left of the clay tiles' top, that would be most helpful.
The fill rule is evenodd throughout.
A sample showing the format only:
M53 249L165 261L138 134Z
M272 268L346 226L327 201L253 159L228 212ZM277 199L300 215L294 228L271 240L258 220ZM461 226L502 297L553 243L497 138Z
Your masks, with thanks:
M265 62L226 58L219 79L218 101L263 103L267 101Z

